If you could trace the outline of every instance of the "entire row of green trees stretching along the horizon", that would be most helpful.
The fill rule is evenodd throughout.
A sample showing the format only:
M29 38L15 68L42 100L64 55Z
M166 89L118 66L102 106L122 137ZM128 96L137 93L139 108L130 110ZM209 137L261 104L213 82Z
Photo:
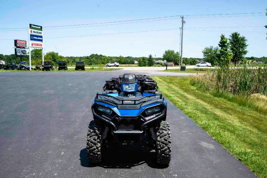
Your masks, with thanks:
M245 57L247 54L247 39L240 36L239 33L234 32L229 37L229 40L222 34L219 42L219 47L205 47L202 51L204 58L183 58L184 65L195 65L198 61L210 62L213 65L219 63L229 64L230 61L236 63L238 61L255 60L267 62L267 57ZM120 64L134 64L138 61L139 66L153 66L155 61L166 60L167 62L174 62L174 65L179 65L179 52L174 50L166 50L162 57L154 57L150 54L148 57L123 57L123 56L104 56L102 54L91 54L90 56L74 57L74 56L61 56L58 52L47 52L44 55L44 60L50 60L54 65L58 65L58 61L66 61L68 65L74 65L76 61L84 61L85 65L98 65L107 64L109 62L119 62ZM4 55L0 54L0 60L5 62L13 61L16 64L20 62L20 57L15 54ZM29 56L22 58L23 62L29 63ZM42 49L31 50L31 65L42 65Z

